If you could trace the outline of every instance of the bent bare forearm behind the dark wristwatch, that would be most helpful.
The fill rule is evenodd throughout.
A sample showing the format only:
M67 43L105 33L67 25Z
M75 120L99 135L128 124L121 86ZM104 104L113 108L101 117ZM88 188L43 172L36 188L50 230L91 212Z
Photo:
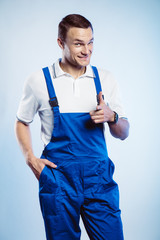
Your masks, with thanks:
M126 119L119 118L116 124L110 124L109 129L113 137L125 140L129 135L129 122Z

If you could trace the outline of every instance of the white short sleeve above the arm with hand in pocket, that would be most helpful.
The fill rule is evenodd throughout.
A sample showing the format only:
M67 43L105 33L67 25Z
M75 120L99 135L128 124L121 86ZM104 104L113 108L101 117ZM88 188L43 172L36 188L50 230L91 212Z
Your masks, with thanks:
M22 98L17 111L17 119L25 124L31 123L38 111L38 102L29 82L30 79L27 79L24 84Z

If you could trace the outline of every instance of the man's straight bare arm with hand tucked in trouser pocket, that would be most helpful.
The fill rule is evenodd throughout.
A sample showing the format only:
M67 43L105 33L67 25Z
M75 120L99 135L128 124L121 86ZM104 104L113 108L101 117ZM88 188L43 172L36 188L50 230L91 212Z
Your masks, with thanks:
M15 132L17 141L19 142L19 145L26 159L26 163L31 168L37 179L39 179L45 165L52 168L57 167L54 163L48 161L47 159L40 159L34 156L32 150L30 128L28 125L20 121L16 121Z

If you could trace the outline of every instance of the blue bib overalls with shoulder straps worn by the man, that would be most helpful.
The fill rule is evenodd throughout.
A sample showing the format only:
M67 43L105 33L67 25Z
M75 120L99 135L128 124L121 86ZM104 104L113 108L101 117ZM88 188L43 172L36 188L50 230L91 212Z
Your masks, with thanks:
M93 71L98 95L101 84L95 67ZM114 165L107 154L104 126L94 124L89 113L60 113L48 68L43 73L54 129L41 158L57 165L45 166L39 179L47 240L79 240L80 215L90 239L123 240L119 191L112 179Z

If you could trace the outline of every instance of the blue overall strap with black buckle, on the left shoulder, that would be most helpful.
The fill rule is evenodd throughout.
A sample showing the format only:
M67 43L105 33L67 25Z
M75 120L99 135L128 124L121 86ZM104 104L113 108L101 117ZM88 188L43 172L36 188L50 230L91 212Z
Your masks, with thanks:
M46 84L47 84L47 89L48 89L48 94L50 97L49 103L51 105L51 107L58 107L58 100L56 97L56 93L52 84L52 79L51 79L51 75L49 72L48 67L42 68L43 73L44 73L44 77L46 80Z

